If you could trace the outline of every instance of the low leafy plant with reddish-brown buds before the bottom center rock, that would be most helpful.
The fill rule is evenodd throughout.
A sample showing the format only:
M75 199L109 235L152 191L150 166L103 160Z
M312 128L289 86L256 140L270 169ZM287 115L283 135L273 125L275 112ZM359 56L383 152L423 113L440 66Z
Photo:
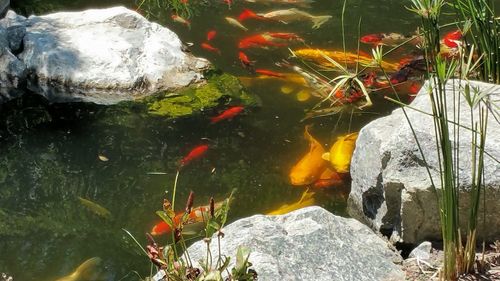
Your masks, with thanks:
M202 206L198 208L193 208L194 193L191 191L184 212L176 215L174 210L180 171L181 169L179 168L176 173L171 201L165 199L163 209L156 212L171 230L171 242L161 247L150 234L146 234L148 245L143 247L129 231L124 229L151 262L150 276L145 279L141 278L141 280L222 281L224 280L222 277L223 272L228 272L230 280L256 280L257 274L250 269L252 264L248 261L250 257L250 250L248 248L242 246L238 248L235 265L230 271L229 264L231 258L221 252L221 239L224 237L222 229L227 221L227 214L233 199L234 190L222 203L216 204L214 199L210 198L209 204L206 207ZM196 218L193 218L193 216ZM201 230L197 230L199 224L203 225ZM203 238L205 242L207 254L204 260L199 261L201 268L194 265L189 255L186 244L188 239L185 238L187 235L194 235L189 240ZM218 255L215 263L212 251L210 250L214 235L217 237L218 247ZM181 253L183 253L182 256ZM155 272L153 272L153 267L156 268Z

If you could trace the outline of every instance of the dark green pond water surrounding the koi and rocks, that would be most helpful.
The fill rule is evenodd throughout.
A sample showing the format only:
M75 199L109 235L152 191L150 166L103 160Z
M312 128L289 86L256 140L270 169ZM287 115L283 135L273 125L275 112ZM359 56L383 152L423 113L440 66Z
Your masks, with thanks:
M124 5L132 1L14 1L23 13L79 10ZM42 3L43 2L43 3ZM249 20L248 32L229 25L224 17L237 17L243 8L267 12L289 5L266 5L234 1L231 9L221 3L200 5L190 19L191 29L171 20L171 12L151 7L152 18L175 31L184 42L193 42L192 53L208 58L224 72L250 76L238 60L237 42L248 34L295 32L315 48L342 49L342 2L316 0L312 14L332 15L319 29L307 22L284 25ZM407 11L409 1L348 1L345 15L346 45L357 48L358 24L361 34L415 31L418 18ZM206 33L216 30L211 44L221 55L199 47ZM303 47L291 43L291 47ZM370 46L362 45L370 52ZM282 71L275 63L287 59L287 48L245 51L258 68ZM394 55L397 61L403 54ZM253 80L252 80L253 81ZM386 115L394 105L383 99L388 91L373 96L374 106L363 112L306 121L304 112L318 101L297 100L280 90L281 79L255 80L248 90L258 95L262 106L248 108L231 121L209 124L210 115L167 120L135 114L131 110L116 118L106 108L93 105L47 106L43 99L29 96L4 105L1 113L0 151L0 272L15 280L56 280L70 273L87 258L99 256L118 280L135 270L149 272L147 259L128 239L122 228L145 243L144 233L159 221L165 190L171 190L176 165L190 149L209 140L206 157L181 172L178 206L190 190L196 204L210 196L222 199L237 188L230 211L231 221L266 213L297 201L303 187L289 183L291 167L307 151L304 126L325 147L340 135L358 131L374 118ZM20 110L19 108L23 108ZM109 161L101 161L99 155ZM215 168L215 170L214 170ZM164 172L151 175L150 172ZM346 215L349 183L316 191L316 204L335 214ZM104 219L89 212L78 197L89 198L111 212ZM159 239L162 241L162 239ZM136 280L126 277L125 280Z

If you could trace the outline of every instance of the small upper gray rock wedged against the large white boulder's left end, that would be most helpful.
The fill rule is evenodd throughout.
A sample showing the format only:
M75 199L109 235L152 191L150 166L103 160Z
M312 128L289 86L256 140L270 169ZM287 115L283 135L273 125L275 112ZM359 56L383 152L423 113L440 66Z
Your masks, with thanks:
M0 26L7 30L11 52L19 53L26 35L26 18L10 10L5 15L5 18L0 20Z

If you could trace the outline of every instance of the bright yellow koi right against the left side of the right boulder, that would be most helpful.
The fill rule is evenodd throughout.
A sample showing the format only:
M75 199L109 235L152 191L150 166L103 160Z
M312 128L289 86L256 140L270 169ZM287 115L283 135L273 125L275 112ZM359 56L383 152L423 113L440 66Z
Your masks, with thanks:
M349 173L352 153L356 147L358 133L352 133L337 138L330 152L323 154L323 159L330 161L337 173Z

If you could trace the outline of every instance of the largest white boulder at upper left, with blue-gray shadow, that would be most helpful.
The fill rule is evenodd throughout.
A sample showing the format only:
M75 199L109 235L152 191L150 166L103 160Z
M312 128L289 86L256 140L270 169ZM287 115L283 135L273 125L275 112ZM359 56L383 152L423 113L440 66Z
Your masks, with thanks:
M49 101L114 104L203 81L205 59L124 7L31 16L18 55L28 88Z

